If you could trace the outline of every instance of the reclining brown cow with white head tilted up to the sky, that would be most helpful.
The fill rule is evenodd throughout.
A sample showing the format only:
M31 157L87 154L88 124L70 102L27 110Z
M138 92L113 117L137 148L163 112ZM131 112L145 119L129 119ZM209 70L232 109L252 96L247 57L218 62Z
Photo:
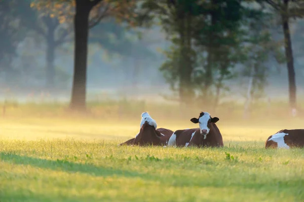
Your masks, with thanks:
M140 131L135 138L120 145L167 145L173 131L166 128L158 128L154 119L147 112L141 114Z

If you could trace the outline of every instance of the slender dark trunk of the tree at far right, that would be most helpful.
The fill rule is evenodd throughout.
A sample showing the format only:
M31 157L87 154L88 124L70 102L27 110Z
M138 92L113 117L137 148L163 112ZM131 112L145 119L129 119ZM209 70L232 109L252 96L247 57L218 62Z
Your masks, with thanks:
M296 84L295 84L295 72L293 64L291 37L289 30L289 17L287 14L288 0L284 0L284 11L282 13L282 24L285 41L285 55L287 59L287 71L288 71L288 84L289 84L289 106L291 109L296 108Z

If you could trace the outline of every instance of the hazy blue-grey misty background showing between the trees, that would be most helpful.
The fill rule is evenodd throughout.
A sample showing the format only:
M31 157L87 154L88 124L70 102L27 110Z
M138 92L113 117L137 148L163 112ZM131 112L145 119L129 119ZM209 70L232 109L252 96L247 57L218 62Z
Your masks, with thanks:
M0 99L6 103L4 105L6 112L11 106L16 108L21 103L48 102L56 105L60 105L60 103L67 105L70 100L74 57L72 21L61 23L56 16L50 17L49 13L45 14L43 11L30 8L28 3L31 1L25 2L27 3L18 5L18 8L15 7L11 12L5 10L4 6L2 8L2 15L9 17L10 20L7 19L7 21L13 23L10 24L10 32L14 36L16 35L15 38L8 37L8 35L0 37L3 50L9 50L9 46L12 44L15 49L14 54L7 53L10 54L9 57L4 54L5 57L0 63ZM64 39L56 45L55 42L48 41L46 34L41 34L41 32L48 33L47 23L50 22L55 26L55 40L60 38L62 30L66 32ZM283 30L280 23L273 23L271 26L272 38L277 42L282 42ZM97 103L101 104L100 109L104 112L103 116L113 112L109 112L111 111L109 106L114 104L109 103L115 102L117 102L115 110L118 116L122 114L131 116L132 113L139 116L142 111L158 109L162 117L165 117L170 109L163 105L168 112L166 110L161 112L159 104L153 108L151 103L166 103L168 106L178 105L178 102L169 101L163 96L173 97L174 95L160 71L160 67L166 61L166 55L163 51L172 45L171 40L168 40L168 33L162 28L162 25L155 24L149 28L127 29L125 23L118 23L109 18L102 20L90 29L87 100L88 103L94 103L95 107ZM2 29L2 33L10 33L7 28L3 27ZM141 37L138 37L138 30L141 31ZM297 19L290 22L299 112L303 103L304 86L303 31L303 20ZM8 38L12 40L10 43L7 43ZM56 46L54 47L53 61L56 71L54 86L51 89L47 85L46 79L49 46ZM284 53L283 45L279 49ZM261 84L261 93L256 98L252 109L253 111L259 109L260 111L256 113L259 116L262 113L279 114L278 111L281 109L284 109L285 113L288 106L286 62L278 63L274 57L269 57L263 65L267 69L266 79ZM225 109L225 112L222 111L222 113L227 114L231 111L230 109L237 108L234 111L238 111L238 113L233 116L242 115L250 79L248 76L242 76L243 69L246 69L246 65L237 64L232 72L238 76L224 81L224 84L230 89L221 92L220 108L217 108L217 111L205 105L196 105L193 106L193 112L198 114L200 110L221 114L221 109ZM128 105L131 106L133 103L137 109L124 106L128 102ZM11 106L10 103L12 103ZM270 109L275 103L276 107ZM278 107L278 103L282 106ZM126 108L129 111L126 111ZM176 113L179 108L171 109L171 111ZM100 115L102 112L97 114ZM300 113L298 115L300 116Z

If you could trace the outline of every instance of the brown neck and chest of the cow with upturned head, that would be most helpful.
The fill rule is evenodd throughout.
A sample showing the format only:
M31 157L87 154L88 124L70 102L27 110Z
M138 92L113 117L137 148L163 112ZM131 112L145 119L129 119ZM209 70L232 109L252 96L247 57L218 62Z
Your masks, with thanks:
M148 121L144 121L144 123L140 127L139 133L136 135L134 139L134 144L158 145L161 141L160 137L161 137L161 133L156 130L155 126L150 125Z

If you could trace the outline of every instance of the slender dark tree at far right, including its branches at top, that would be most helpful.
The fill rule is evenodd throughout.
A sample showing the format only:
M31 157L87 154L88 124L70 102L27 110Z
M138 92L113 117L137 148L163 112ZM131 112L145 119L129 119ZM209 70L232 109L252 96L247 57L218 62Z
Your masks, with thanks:
M295 110L296 82L289 24L291 18L296 19L304 17L304 4L303 1L297 0L265 0L265 2L268 3L268 5L270 5L281 17L288 71L289 106L292 110Z

